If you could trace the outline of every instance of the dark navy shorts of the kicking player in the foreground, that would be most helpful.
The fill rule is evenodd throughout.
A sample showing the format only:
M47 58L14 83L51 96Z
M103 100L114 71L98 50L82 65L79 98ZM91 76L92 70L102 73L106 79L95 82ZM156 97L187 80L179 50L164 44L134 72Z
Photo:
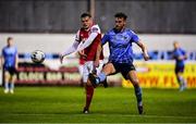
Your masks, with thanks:
M115 69L115 73L121 73L125 79L128 79L127 74L130 71L135 71L135 66L133 65L133 63L111 63Z

